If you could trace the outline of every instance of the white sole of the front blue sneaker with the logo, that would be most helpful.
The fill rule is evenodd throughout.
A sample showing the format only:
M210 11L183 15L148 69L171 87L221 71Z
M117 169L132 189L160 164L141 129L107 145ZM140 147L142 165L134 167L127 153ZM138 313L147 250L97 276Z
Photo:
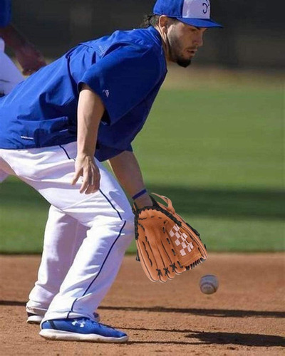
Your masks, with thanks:
M43 329L39 335L49 340L90 341L90 342L126 342L128 335L123 337L105 337L96 334L79 334L63 330Z

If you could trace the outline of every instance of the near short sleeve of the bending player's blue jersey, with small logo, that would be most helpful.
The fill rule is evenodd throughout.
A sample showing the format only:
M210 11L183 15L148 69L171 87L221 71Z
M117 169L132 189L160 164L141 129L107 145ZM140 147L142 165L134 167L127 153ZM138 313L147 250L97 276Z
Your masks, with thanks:
M160 80L160 63L152 48L135 44L120 46L93 64L79 83L98 94L113 125L147 97Z

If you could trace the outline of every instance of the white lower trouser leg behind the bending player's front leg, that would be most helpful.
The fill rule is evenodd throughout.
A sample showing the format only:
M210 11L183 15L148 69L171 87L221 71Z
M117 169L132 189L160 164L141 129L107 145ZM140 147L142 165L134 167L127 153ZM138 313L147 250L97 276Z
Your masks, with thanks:
M53 297L59 292L69 268L85 239L88 228L51 205L43 239L43 254L38 281L31 290L26 310L45 315Z

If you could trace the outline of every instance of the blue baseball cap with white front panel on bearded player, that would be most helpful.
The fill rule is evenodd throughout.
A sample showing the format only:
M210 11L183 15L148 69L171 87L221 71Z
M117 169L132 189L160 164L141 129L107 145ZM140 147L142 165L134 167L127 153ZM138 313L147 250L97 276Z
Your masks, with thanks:
M210 19L209 0L157 0L153 14L175 17L195 27L222 27Z

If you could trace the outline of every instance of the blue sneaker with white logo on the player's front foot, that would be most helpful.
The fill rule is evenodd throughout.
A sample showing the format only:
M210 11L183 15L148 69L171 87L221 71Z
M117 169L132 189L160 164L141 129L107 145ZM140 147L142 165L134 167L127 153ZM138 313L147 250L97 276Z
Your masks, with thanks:
M125 342L128 335L88 318L53 319L41 324L40 335L51 340Z

